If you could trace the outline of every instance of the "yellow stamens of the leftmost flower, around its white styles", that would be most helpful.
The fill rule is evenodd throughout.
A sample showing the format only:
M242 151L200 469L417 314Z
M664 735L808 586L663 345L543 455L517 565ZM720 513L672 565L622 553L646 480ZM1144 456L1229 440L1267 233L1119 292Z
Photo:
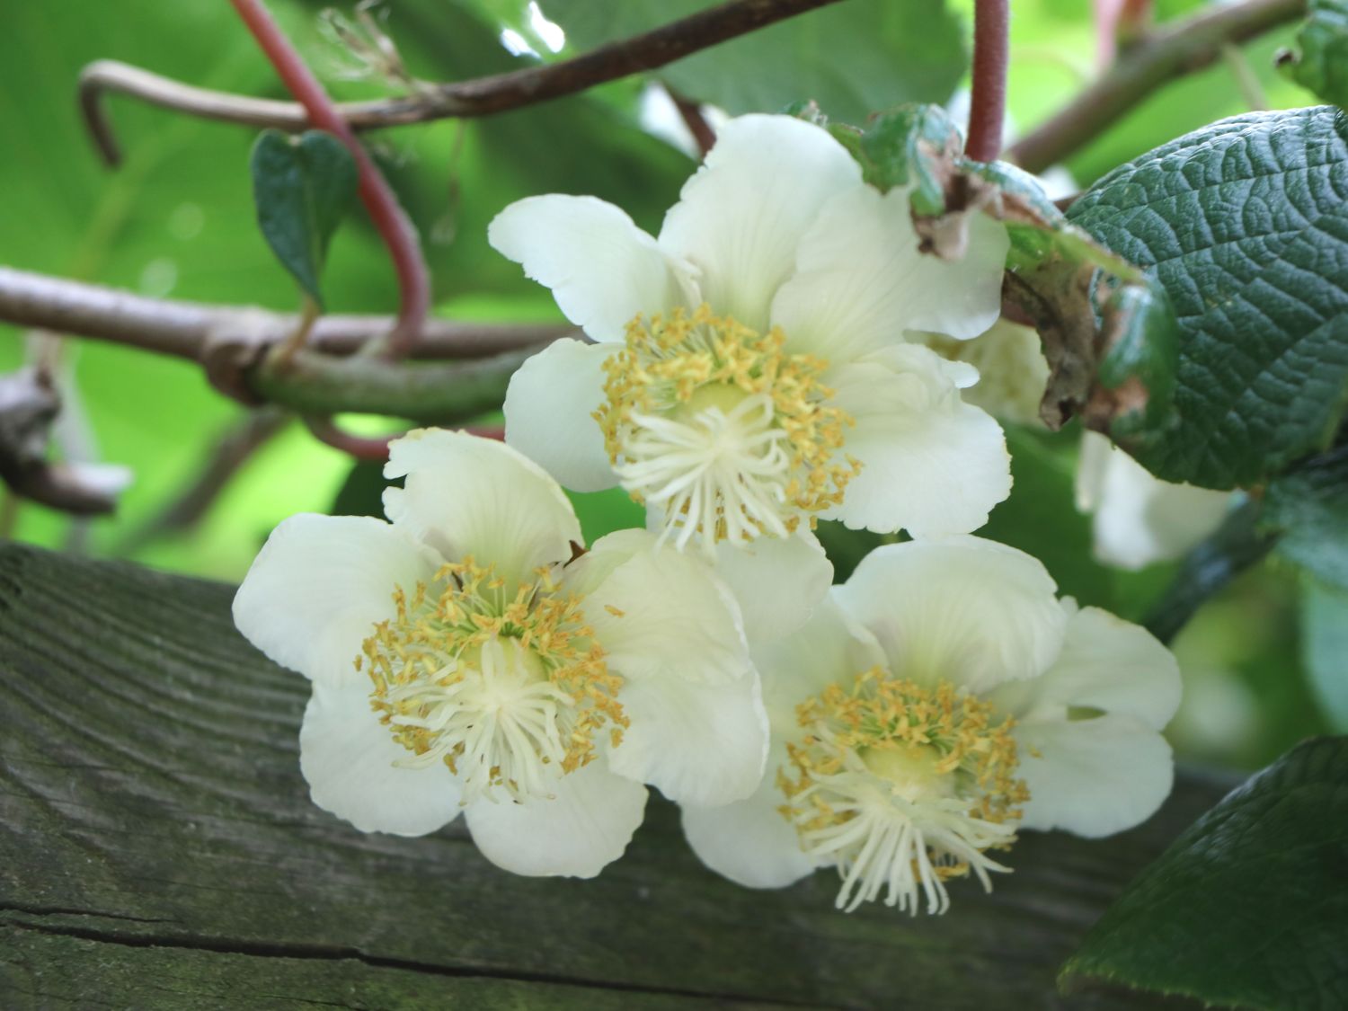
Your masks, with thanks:
M523 658L520 677L537 682L530 685L530 698L535 713L543 712L555 724L549 731L559 745L563 772L593 760L596 735L605 727L612 744L620 743L628 725L617 701L623 679L608 670L578 599L558 593L546 568L537 577L511 594L491 566L466 558L441 568L431 586L419 582L410 596L402 588L394 592L396 615L365 639L356 669L369 675L371 706L399 744L415 755L439 752L457 772L456 760L465 749L462 725L446 731L448 718L435 725L427 718L434 705L429 700L443 689L470 689L465 682L483 678L484 650L500 643ZM481 704L485 723L492 708L503 704L487 687L477 696L487 696ZM462 697L474 698L472 692ZM450 743L446 733L460 739ZM511 743L519 740L515 735ZM545 764L549 760L541 758ZM499 767L491 768L491 785L510 786Z

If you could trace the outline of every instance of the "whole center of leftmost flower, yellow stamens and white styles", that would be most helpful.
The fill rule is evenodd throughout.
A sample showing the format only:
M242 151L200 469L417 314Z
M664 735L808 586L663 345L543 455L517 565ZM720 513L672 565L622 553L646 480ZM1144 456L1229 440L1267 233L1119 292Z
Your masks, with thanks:
M576 599L546 570L507 596L504 582L466 559L446 565L434 590L394 594L396 617L375 628L357 658L371 706L411 752L402 764L443 762L464 801L549 797L562 775L593 760L605 728L621 741L623 679Z

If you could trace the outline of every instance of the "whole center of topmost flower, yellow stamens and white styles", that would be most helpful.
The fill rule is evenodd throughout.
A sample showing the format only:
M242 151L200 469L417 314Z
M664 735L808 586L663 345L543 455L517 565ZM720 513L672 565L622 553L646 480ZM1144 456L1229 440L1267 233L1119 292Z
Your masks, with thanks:
M785 344L704 305L636 317L604 364L594 418L609 460L679 547L786 537L841 503L860 469L840 453L852 418L820 381L828 363Z

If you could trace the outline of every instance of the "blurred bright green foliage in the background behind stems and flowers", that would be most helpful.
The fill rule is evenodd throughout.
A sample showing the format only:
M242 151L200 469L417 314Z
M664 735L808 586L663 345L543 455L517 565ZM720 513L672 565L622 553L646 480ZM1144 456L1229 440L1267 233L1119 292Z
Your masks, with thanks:
M577 42L636 31L700 5L542 0L543 13L573 28L558 54L531 24L524 0L391 0L386 24L414 75L445 81L569 55ZM318 31L322 4L274 0L271 7L338 97L387 90L377 81L342 80L340 53ZM902 15L894 13L898 7ZM1093 73L1089 7L1080 0L1014 4L1010 94L1022 131L1060 108ZM1158 4L1166 18L1197 7L1193 0ZM669 80L735 112L775 111L778 98L810 97L791 93L801 81L817 90L826 112L844 120L884 102L945 102L964 66L971 8L972 0L900 5L849 0L704 54L697 65L674 65ZM857 24L874 27L865 32L865 47L840 58L833 40ZM503 27L543 55L512 55L501 44ZM1289 27L1246 49L1275 108L1314 101L1273 67L1274 51L1290 44L1293 35ZM225 4L13 5L0 35L7 154L0 159L0 263L148 295L295 309L295 286L253 222L248 152L255 133L111 98L127 160L108 171L84 135L74 104L78 73L97 58L210 88L283 97ZM887 66L902 73L882 77ZM705 93L693 93L700 88ZM441 121L375 137L377 156L426 237L438 313L469 319L557 318L547 293L485 243L487 222L520 197L593 193L621 205L638 224L658 228L693 162L640 129L639 93L639 82L623 81L488 120ZM1073 155L1066 168L1084 186L1138 154L1243 111L1229 67L1217 63L1161 89ZM396 286L360 213L333 240L324 294L332 311L395 309ZM26 504L15 535L53 547L127 554L129 538L191 480L243 408L212 391L200 369L185 363L96 342L63 346L98 457L129 465L135 484L116 518L92 523ZM24 334L0 328L0 371L16 368L24 356ZM350 423L368 431L398 426L395 419ZM1171 569L1126 574L1089 559L1089 522L1072 503L1076 433L1012 431L1011 439L1016 492L985 532L1039 554L1065 592L1140 616ZM337 508L340 491L340 508L368 508L375 479L368 468L353 473L345 456L291 426L249 461L198 530L129 554L159 568L237 580L282 518ZM589 535L639 522L620 493L577 496L577 501ZM825 535L840 566L864 550L837 531ZM1274 559L1186 630L1177 650L1190 704L1171 731L1182 751L1254 767L1326 729L1299 674L1297 590L1295 573ZM1317 596L1317 607L1322 612L1328 604ZM1320 643L1322 636L1310 640ZM1333 709L1340 710L1341 704Z

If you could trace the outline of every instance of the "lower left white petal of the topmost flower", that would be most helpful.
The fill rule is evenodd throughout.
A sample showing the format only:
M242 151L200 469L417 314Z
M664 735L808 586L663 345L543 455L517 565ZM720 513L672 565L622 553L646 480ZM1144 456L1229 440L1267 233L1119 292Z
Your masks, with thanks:
M604 363L615 349L559 340L520 365L506 391L506 442L572 491L617 484L590 417L604 400Z

